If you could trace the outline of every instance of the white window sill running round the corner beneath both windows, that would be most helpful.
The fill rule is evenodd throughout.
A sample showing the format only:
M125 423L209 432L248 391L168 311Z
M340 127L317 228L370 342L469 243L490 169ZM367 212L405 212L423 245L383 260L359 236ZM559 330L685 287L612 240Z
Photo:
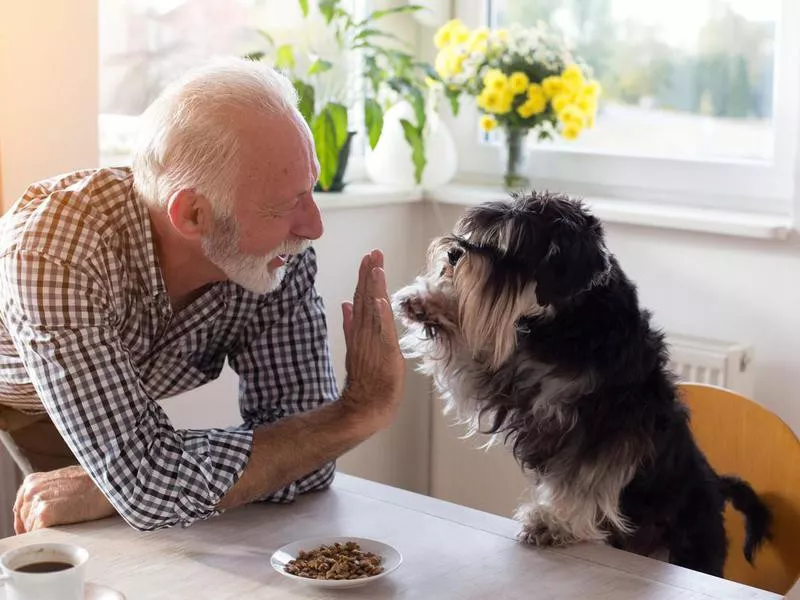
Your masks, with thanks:
M455 206L475 206L506 197L491 186L449 184L432 190L399 189L369 182L351 183L342 192L318 193L323 211L410 204L426 200ZM585 198L592 212L607 223L692 231L765 240L785 240L794 229L788 216L712 210L646 202Z

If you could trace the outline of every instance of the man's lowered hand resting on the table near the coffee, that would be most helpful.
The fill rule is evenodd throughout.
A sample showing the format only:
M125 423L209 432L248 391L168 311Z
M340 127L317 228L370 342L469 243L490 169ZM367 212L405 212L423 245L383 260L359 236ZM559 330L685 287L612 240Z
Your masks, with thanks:
M31 473L17 491L14 531L93 521L116 514L82 467Z

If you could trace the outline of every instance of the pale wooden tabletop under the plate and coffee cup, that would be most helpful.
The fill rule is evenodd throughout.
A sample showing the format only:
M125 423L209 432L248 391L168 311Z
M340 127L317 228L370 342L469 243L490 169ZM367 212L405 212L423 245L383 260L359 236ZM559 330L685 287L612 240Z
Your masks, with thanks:
M535 549L515 541L517 529L510 519L339 473L332 489L290 505L251 505L147 533L104 519L5 538L0 552L36 541L83 545L91 555L88 579L127 600L780 598L603 545ZM385 541L404 562L374 584L332 591L270 567L270 555L283 544L323 535Z

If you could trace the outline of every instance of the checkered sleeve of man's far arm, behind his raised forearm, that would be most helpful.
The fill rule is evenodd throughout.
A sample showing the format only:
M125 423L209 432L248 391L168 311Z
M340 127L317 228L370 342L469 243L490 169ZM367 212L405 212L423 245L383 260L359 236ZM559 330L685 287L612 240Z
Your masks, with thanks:
M262 298L237 350L228 357L239 374L240 410L248 427L338 397L325 307L314 286L316 272L313 249L290 259L280 288ZM334 471L335 462L327 463L262 500L291 502L298 494L330 485Z

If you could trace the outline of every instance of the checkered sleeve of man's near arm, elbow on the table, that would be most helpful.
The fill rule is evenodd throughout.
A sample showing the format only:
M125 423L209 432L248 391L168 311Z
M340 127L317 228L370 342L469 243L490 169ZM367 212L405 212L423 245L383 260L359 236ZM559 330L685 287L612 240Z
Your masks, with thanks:
M252 432L175 430L147 396L118 336L110 254L4 255L5 325L53 423L117 512L140 530L188 525L217 513Z

